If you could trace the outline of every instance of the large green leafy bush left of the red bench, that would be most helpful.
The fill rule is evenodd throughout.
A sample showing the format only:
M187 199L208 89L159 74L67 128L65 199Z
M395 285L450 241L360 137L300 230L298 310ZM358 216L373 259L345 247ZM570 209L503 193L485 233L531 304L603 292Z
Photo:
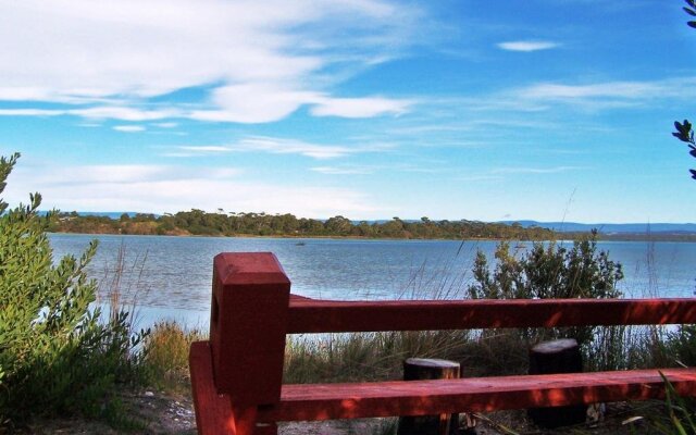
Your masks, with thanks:
M0 158L0 194L18 154ZM46 236L55 213L41 215L38 194L28 206L0 200L0 422L21 424L32 414L110 412L107 400L137 361L127 313L107 323L92 309L97 284L85 268L90 244L76 259L53 262Z

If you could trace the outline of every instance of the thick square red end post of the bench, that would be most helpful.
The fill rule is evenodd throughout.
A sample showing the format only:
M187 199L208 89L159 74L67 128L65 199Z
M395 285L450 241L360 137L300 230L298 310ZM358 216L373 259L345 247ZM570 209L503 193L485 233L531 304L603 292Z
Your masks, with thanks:
M273 253L215 256L213 375L217 393L231 397L238 434L252 433L259 406L281 399L289 295L290 281Z

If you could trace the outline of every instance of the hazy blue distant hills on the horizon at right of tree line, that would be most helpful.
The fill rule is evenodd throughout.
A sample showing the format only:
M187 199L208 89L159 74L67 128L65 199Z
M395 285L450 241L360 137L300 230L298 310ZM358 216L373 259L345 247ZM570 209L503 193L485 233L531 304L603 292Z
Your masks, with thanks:
M560 233L588 232L597 228L604 234L645 234L645 233L669 233L669 234L696 234L696 224L666 224L666 223L631 223L631 224L579 224L575 222L536 222L536 221L501 221L504 224L518 222L523 227L540 226Z

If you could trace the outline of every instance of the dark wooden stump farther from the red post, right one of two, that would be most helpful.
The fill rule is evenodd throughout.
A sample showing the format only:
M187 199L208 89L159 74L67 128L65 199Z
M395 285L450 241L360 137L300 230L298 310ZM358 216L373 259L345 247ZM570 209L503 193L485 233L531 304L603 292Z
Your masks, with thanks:
M544 341L530 350L530 374L580 373L583 371L583 357L580 346L573 338ZM568 407L534 408L527 411L537 426L552 428L585 422L587 407L574 405Z

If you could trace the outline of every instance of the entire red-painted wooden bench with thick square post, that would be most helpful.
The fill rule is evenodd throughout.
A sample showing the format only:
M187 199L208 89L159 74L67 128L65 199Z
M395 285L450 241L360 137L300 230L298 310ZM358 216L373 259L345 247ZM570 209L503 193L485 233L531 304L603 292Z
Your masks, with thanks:
M275 256L221 253L210 340L190 349L198 433L269 435L275 422L427 415L696 396L696 369L282 385L286 334L696 323L694 299L326 301L290 295Z

